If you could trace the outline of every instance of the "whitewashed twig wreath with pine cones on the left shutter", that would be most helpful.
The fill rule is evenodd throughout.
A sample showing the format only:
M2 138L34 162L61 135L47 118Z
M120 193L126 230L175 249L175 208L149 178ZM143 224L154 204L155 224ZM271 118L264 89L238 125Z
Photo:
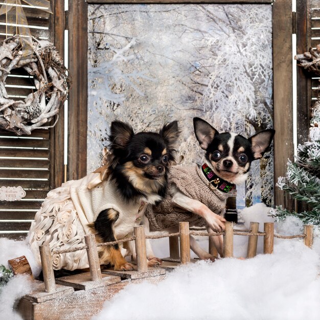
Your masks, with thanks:
M17 135L55 126L71 82L63 59L51 42L32 37L33 52L27 57L22 42L15 35L0 44L0 128ZM6 79L17 68L23 68L31 76L35 87L24 100L10 99L6 90ZM52 125L43 126L55 116Z

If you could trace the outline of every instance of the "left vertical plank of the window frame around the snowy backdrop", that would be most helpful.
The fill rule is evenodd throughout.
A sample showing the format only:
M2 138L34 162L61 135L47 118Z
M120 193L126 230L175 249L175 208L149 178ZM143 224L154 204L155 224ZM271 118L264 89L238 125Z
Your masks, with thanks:
M67 179L79 179L87 171L87 3L69 0L69 71L73 86L68 102Z

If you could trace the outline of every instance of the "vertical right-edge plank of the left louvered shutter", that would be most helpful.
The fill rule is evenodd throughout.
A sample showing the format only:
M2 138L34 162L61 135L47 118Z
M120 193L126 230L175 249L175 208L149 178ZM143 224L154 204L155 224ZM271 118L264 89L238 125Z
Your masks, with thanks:
M51 2L53 15L50 16L50 40L54 43L61 57L64 57L65 13L64 0ZM83 49L84 50L84 49ZM64 177L64 107L60 106L59 119L51 129L51 188L60 187Z

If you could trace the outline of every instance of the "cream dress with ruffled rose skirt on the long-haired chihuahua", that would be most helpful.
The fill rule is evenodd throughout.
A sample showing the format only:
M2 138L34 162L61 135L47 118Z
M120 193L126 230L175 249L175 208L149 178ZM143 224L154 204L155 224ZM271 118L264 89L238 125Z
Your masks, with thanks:
M67 181L48 193L29 231L30 246L38 264L41 263L40 245L49 244L52 251L83 246L84 235L92 232L88 223L94 222L102 210L113 208L120 213L114 224L118 240L131 235L133 226L139 224L138 218L144 213L141 202L122 200L113 180L109 178L93 189L87 188L97 175L100 173ZM67 270L87 268L86 251L53 254L53 266Z

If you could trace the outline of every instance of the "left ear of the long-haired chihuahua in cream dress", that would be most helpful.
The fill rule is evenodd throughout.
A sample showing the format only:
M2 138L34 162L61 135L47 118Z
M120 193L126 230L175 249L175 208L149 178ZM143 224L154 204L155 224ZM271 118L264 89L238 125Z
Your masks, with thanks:
M113 148L124 149L133 135L133 129L127 123L122 121L111 122L109 140Z

